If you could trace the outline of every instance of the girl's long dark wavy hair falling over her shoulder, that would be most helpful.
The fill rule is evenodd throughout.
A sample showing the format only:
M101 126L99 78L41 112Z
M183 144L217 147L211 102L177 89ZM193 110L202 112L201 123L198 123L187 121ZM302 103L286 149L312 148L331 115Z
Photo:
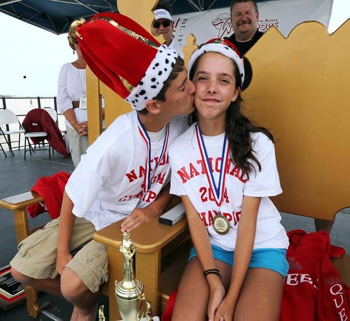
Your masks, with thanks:
M205 55L205 53L203 53L203 55ZM194 72L197 68L199 59L203 55L197 58L190 70L191 81L193 81ZM242 88L241 75L238 66L233 60L231 61L235 66L236 88ZM243 99L240 92L236 101L232 101L226 110L225 133L230 145L230 156L232 162L245 172L242 173L242 176L247 174L247 178L249 179L249 173L255 172L253 162L257 164L259 171L261 171L261 165L252 149L253 141L250 133L263 132L269 139L271 139L271 141L274 141L274 138L268 129L254 125L246 116L244 116L241 111L242 103ZM196 121L198 121L197 111L194 111L189 117L190 125Z

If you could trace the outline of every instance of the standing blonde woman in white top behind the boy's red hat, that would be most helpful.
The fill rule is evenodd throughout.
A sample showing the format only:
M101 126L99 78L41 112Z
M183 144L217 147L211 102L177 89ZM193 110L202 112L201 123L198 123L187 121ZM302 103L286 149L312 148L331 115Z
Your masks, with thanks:
M65 116L70 152L74 167L80 156L89 147L88 112L86 110L86 62L81 54L75 32L85 23L83 18L74 20L69 28L69 46L76 51L78 59L64 64L61 68L57 86L57 108ZM104 111L104 110L103 110Z

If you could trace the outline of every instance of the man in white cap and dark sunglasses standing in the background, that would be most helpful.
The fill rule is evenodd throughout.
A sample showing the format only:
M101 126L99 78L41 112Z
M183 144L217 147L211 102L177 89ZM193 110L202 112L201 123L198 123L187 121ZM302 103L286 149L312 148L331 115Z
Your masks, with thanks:
M152 35L156 37L162 35L165 40L164 44L178 51L179 56L184 58L182 46L172 36L174 20L171 18L170 9L168 9L167 6L163 6L153 11L155 18L151 28Z

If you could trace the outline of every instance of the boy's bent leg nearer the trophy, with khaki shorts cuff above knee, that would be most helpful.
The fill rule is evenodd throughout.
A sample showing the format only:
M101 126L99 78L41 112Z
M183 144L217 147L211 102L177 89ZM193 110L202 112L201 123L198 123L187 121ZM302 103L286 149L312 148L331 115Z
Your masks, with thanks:
M74 305L79 321L95 320L100 285L107 280L107 247L92 240L78 251L61 275L62 295Z

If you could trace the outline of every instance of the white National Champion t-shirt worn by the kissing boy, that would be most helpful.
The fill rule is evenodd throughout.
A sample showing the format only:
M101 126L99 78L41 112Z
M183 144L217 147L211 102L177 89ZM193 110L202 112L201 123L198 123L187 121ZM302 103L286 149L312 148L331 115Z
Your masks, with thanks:
M187 128L187 117L173 117L168 144ZM163 129L160 135L165 136ZM151 141L152 185L144 193L148 149L139 133L137 114L133 111L115 119L81 156L68 180L66 192L74 203L74 215L91 221L99 230L124 219L134 208L152 203L170 179L167 152L158 162L164 139L154 140ZM156 163L159 165L153 175Z

